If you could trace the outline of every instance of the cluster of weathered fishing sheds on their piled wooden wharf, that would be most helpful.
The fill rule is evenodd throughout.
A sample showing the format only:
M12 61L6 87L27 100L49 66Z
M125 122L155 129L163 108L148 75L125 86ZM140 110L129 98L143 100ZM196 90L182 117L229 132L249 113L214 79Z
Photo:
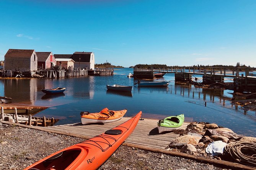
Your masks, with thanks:
M113 75L111 66L94 68L93 52L55 54L35 50L9 49L0 77L65 78L87 75Z

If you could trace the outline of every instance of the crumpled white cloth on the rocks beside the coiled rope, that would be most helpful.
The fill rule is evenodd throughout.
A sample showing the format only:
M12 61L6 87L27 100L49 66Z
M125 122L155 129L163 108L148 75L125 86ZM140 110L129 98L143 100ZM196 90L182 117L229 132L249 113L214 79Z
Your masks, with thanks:
M226 145L227 143L225 142L214 141L208 144L208 146L205 148L205 151L212 156L218 156L219 154L223 154Z

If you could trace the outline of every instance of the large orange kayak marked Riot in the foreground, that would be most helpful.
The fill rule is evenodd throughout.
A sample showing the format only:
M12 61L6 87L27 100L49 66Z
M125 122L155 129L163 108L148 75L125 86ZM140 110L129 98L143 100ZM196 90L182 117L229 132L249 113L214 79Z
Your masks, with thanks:
M24 170L96 170L133 132L142 115L137 115L101 135L62 149Z

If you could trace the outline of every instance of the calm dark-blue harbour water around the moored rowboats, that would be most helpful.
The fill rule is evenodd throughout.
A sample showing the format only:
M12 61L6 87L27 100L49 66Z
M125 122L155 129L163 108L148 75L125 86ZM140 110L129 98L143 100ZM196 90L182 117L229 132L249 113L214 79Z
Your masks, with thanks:
M174 74L159 80L171 80L168 87L137 87L128 78L133 69L115 70L113 76L88 76L71 79L0 80L0 95L13 98L13 103L49 106L35 116L60 119L57 125L80 122L80 112L127 109L126 116L142 111L143 117L162 119L184 114L187 121L217 123L234 132L256 137L256 112L244 111L230 104L230 90L207 90L174 82ZM142 80L143 81L143 80ZM108 91L106 85L133 85L132 93ZM62 95L45 96L42 88L66 87ZM205 107L205 102L207 103Z

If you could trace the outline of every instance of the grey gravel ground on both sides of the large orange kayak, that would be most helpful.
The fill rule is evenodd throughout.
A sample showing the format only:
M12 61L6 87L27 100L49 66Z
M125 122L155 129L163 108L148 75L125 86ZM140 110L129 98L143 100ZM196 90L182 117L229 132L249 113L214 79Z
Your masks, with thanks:
M0 122L0 170L22 170L36 161L84 141ZM227 170L194 160L121 146L99 170Z

